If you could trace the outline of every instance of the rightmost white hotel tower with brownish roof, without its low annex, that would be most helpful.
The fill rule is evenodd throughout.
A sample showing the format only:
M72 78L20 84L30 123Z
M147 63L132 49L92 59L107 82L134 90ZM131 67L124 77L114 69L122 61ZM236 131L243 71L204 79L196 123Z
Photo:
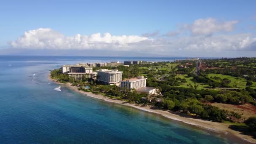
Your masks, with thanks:
M133 77L130 79L122 80L120 81L120 88L128 88L131 90L132 88L137 89L137 88L145 88L146 87L146 80L147 78L144 78L144 76L139 76L139 77Z

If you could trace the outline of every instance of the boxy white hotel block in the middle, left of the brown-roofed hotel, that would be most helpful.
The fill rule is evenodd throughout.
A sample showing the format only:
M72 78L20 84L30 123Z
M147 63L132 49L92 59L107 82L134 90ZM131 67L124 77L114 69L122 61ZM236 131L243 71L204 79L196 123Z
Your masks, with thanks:
M122 80L123 72L120 72L117 69L100 69L97 72L97 79L101 81L103 84L114 85L120 83L120 81Z

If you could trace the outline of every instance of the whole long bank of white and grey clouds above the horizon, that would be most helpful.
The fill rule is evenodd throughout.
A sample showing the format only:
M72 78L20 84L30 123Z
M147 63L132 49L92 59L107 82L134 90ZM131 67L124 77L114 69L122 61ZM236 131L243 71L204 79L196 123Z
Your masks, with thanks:
M216 21L213 18L197 19L192 24L182 24L183 27L164 35L155 31L142 36L95 33L67 37L52 29L40 28L24 32L24 35L11 41L9 45L27 49L139 51L160 55L176 52L184 52L186 55L197 51L256 51L255 34L228 33L236 23L237 21ZM156 35L158 36L155 37Z

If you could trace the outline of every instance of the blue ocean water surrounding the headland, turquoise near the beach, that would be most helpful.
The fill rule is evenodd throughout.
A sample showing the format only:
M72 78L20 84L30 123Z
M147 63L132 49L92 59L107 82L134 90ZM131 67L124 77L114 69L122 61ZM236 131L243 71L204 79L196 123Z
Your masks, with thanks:
M0 143L245 143L234 136L93 99L49 81L62 64L181 58L0 56Z

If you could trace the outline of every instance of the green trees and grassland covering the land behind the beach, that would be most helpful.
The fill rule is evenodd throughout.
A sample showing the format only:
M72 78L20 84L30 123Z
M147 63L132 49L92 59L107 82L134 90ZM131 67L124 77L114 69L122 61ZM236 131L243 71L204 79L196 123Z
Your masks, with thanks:
M123 71L123 79L144 75L148 78L147 86L155 87L161 93L157 95L137 93L135 90L120 91L115 85L101 85L99 81L88 78L74 80L67 74L62 74L60 69L51 71L51 77L62 83L70 82L78 85L81 91L155 105L205 120L241 122L243 119L239 113L219 109L211 103L256 105L254 101L256 73L251 70L255 68L255 62L256 59L249 58L202 60L203 66L200 72L195 72L196 61L179 63L163 61L153 64L134 64L130 67L101 67ZM97 69L99 68L93 68L94 71ZM85 89L85 86L89 86L90 89ZM141 99L142 97L145 97L146 101Z

